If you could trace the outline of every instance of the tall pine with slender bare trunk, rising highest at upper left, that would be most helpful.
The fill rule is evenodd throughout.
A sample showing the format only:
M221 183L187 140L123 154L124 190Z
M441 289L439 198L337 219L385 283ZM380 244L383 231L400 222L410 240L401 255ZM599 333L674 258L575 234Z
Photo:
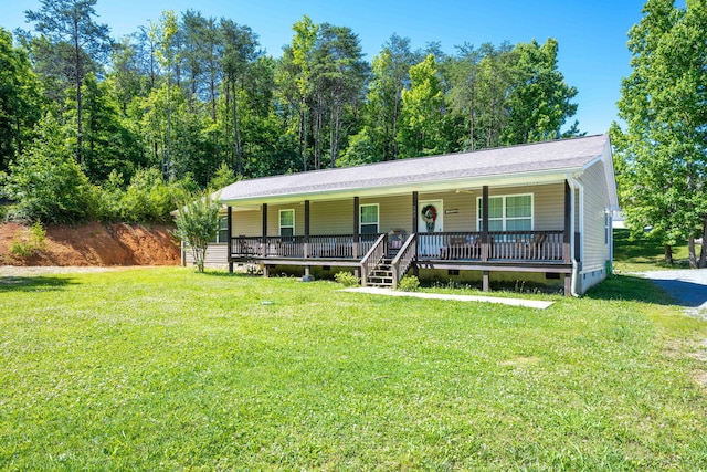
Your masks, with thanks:
M97 0L40 0L40 9L25 11L27 20L35 22L35 29L61 50L71 51L65 73L76 91L76 161L81 164L83 151L82 84L87 72L86 63L103 60L109 48L108 27L97 24L94 6ZM67 59L64 56L64 59Z

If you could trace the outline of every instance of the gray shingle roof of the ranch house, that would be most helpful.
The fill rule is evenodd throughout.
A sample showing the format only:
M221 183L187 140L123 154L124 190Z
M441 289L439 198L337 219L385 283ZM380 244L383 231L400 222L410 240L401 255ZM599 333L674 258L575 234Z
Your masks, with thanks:
M572 171L602 156L608 135L561 139L473 153L449 154L241 180L221 190L222 202L368 190L485 177Z

